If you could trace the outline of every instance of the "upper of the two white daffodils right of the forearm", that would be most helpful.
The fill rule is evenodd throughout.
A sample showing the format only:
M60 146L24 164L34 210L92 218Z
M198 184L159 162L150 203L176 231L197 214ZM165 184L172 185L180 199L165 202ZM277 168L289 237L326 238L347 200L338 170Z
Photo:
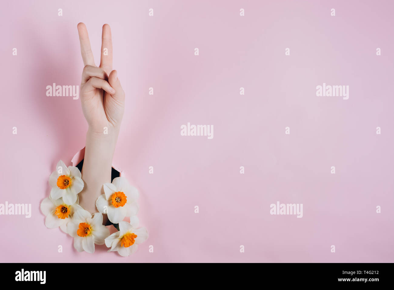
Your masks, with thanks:
M138 213L138 190L128 184L125 177L114 178L103 187L105 194L97 198L96 207L100 213L108 215L111 223L117 224Z

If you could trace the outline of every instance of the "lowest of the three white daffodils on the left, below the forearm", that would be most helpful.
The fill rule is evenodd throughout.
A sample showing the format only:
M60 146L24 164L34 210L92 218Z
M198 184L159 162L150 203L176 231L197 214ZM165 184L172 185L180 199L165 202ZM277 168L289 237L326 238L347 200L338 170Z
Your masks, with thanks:
M102 214L78 209L72 220L67 223L67 233L74 238L74 248L78 252L95 252L95 244L104 244L105 238L110 235L110 230L102 225Z

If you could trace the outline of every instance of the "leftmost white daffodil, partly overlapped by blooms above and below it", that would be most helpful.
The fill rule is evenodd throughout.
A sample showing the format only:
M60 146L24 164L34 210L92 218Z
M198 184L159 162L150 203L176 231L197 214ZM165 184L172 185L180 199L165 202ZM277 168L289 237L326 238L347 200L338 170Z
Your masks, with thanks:
M44 198L40 205L41 211L46 216L45 226L47 228L58 228L67 233L67 223L71 221L75 211L82 208L78 205L78 200L74 204L65 204L63 198L52 200Z

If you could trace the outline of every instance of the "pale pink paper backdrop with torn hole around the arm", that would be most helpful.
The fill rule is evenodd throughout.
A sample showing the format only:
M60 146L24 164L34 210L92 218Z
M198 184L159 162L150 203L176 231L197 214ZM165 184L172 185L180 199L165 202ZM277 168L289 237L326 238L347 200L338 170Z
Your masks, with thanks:
M32 204L30 219L0 215L2 262L394 262L392 1L1 5L0 203ZM80 84L78 22L97 64L111 25L126 92L113 163L149 230L128 258L77 253L39 210L58 160L85 146L80 100L46 96ZM349 85L349 99L316 97L323 82ZM214 125L214 138L182 137L187 122ZM303 218L270 215L277 201L302 203Z

